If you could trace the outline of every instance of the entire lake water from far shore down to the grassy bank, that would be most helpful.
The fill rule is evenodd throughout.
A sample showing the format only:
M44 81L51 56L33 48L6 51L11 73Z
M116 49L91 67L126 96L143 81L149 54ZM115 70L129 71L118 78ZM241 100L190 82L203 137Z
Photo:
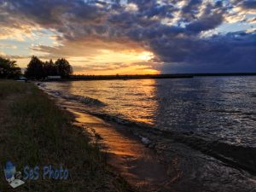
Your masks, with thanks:
M154 151L150 154L156 155L152 163L157 165L160 160L166 167L165 184L159 191L255 191L255 79L236 77L189 81L191 79L45 83L44 90L60 100L62 106L80 113L82 117L90 113L109 122L111 125L107 131L122 130L123 137L131 134L136 137L129 137L130 144L123 148L125 154L122 154L116 143L120 143L119 148L122 148L122 143L128 140L115 141L113 137L106 137L104 126L96 129L112 154L111 160L115 163L120 160L117 163L119 169L123 170L124 167L120 167L126 165L125 177L137 176L133 181L135 185L143 186L148 182L138 174L139 170L147 168L137 161L137 158L141 160L141 155L131 153L132 157L126 158L128 149L135 148L131 143L139 142ZM204 85L199 86L202 81ZM136 84L140 89L133 88ZM215 92L210 85L214 85L212 89ZM160 95L164 102L160 102ZM115 97L121 98L119 102ZM199 103L203 103L204 108ZM127 112L129 108L133 110ZM171 109L173 113L160 115ZM178 113L178 110L183 113ZM161 118L166 119L166 123L158 123ZM174 122L180 122L180 127ZM90 121L85 120L84 125L90 127ZM91 125L91 128L96 126ZM135 151L143 148L141 144L135 146L140 146ZM156 172L162 172L161 169L156 166ZM152 181L158 181L157 177L155 174ZM154 184L154 188L159 186Z

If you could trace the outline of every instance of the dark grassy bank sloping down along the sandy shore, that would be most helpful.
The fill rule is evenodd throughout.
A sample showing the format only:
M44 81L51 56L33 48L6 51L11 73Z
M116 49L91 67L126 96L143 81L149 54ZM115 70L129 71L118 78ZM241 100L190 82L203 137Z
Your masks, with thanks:
M27 180L17 191L131 191L106 163L88 133L72 124L73 117L55 106L34 84L0 81L0 189L13 191L3 166L39 166L38 180ZM67 180L43 179L44 165L65 167Z

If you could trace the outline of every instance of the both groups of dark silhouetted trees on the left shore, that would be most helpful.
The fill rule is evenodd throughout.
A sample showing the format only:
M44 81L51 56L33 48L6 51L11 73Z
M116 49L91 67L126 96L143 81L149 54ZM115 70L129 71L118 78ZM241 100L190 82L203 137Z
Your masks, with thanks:
M27 79L45 79L48 76L61 76L67 79L73 73L73 68L69 62L64 59L41 61L37 56L32 56L25 70ZM0 57L0 78L18 78L21 75L20 67L17 67L16 61L10 61Z

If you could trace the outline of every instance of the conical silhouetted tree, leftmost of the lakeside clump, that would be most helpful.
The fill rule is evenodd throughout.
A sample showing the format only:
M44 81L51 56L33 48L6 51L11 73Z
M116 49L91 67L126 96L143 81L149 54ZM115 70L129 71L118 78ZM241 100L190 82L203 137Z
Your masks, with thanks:
M39 60L37 56L32 56L27 65L25 76L30 79L43 79L45 77L44 62Z

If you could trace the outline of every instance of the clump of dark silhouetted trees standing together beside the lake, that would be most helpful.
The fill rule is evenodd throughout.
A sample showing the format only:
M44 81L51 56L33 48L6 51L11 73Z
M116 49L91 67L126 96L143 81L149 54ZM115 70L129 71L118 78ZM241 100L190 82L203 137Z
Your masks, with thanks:
M27 65L25 76L28 79L45 79L47 76L61 76L61 78L67 79L72 73L73 68L66 59L44 62L39 60L37 56L32 56Z

